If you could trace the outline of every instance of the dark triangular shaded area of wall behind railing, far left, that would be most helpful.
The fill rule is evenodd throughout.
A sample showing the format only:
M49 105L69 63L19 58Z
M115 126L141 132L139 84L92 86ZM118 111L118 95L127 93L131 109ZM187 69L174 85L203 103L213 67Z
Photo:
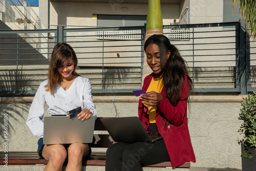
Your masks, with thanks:
M0 20L0 30L11 30L11 28ZM17 65L17 63L18 65L49 64L48 59L32 47L25 40L26 38L20 37L15 33L1 34L1 31L0 37L1 65ZM35 44L35 42L33 42L33 44Z

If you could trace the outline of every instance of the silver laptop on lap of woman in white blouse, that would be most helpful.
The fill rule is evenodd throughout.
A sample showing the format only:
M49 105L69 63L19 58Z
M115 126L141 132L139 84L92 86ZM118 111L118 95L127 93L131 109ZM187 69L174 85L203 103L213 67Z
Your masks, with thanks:
M77 117L46 116L44 119L44 144L91 143L95 116L81 121Z

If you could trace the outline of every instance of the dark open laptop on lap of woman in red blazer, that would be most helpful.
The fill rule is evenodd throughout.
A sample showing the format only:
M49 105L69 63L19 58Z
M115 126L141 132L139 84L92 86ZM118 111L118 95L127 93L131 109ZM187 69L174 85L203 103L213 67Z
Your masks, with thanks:
M110 136L116 142L155 142L161 135L147 134L138 117L100 118Z

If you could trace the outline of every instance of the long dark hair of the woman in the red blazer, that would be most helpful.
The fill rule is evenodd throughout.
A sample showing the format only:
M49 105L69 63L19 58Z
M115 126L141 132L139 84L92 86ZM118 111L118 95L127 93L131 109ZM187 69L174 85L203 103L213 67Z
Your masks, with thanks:
M188 66L186 61L181 57L179 50L172 44L169 39L162 34L154 34L149 37L144 45L144 51L150 44L155 44L160 51L160 65L163 69L163 88L164 96L169 102L176 106L180 100L186 100L193 89L193 82L188 75ZM170 51L170 56L166 56ZM185 99L181 99L182 90L185 84L184 75L187 76L189 91Z

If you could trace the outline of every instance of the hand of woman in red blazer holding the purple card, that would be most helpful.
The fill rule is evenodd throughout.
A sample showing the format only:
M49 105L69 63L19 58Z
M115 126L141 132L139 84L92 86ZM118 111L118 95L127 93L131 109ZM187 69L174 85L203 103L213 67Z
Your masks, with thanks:
M143 100L142 103L147 105L158 105L161 103L163 96L157 92L148 92L147 94L141 94L140 99Z

